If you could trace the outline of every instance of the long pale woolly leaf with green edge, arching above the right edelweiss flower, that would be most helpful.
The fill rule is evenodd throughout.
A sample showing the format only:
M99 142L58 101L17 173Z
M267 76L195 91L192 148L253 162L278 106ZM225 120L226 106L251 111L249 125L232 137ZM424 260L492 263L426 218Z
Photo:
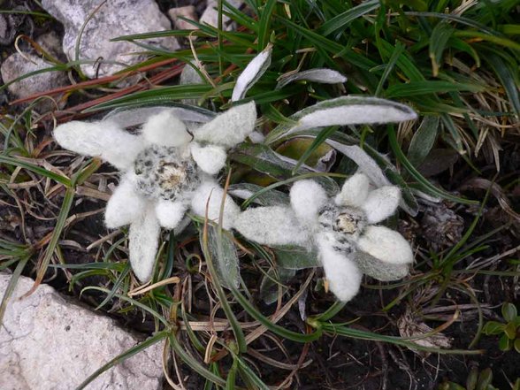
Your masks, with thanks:
M297 122L296 126L277 126L265 142L269 144L284 135L313 127L402 122L416 118L417 113L401 103L378 97L341 96L296 112L289 118Z

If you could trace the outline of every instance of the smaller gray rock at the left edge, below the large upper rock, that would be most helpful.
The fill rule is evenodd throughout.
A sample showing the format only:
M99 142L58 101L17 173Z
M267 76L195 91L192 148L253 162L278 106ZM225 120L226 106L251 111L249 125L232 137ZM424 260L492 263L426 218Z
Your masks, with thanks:
M34 56L34 54L26 53L24 56L19 53L14 53L5 59L0 68L0 73L2 73L2 80L4 80L4 83L15 80L24 74L53 66L53 64L42 60L40 57ZM22 98L30 96L36 92L43 92L52 88L64 86L67 83L68 80L65 72L52 71L35 74L26 79L16 81L7 88L13 96ZM50 110L55 107L56 105L52 103L50 99L42 99L36 105L36 108L40 110Z

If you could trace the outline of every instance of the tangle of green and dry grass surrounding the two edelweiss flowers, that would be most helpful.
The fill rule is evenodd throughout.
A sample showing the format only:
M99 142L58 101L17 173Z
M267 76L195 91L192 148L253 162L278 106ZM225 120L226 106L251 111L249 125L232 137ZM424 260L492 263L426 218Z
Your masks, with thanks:
M463 382L461 355L484 367L500 363L495 386L507 388L516 353L482 333L492 306L514 302L520 273L516 2L245 3L239 10L219 2L236 31L195 23L195 32L121 36L116 41L140 45L149 59L96 80L84 79L81 60L57 62L50 69L70 72L71 86L11 101L0 119L0 269L12 272L0 316L24 274L35 287L49 281L152 335L81 387L163 342L173 388L434 386L443 370ZM193 47L171 52L140 41L165 35ZM240 80L266 48L262 77ZM179 84L187 67L199 77ZM135 73L147 77L119 83ZM63 110L19 105L64 93ZM378 126L366 109L364 121L292 131L302 111L345 95L391 99L418 118ZM233 97L255 101L258 118L257 133L228 152L219 177L237 203L245 195L241 209L288 204L294 181L318 180L333 195L358 167L382 172L401 190L400 219L386 225L412 242L409 276L365 278L363 295L336 302L315 253L260 245L190 213L181 233L161 233L150 284L141 287L127 260L126 227L107 232L103 224L119 173L59 149L55 120L111 112L132 128L151 107L195 103L193 112L214 115Z

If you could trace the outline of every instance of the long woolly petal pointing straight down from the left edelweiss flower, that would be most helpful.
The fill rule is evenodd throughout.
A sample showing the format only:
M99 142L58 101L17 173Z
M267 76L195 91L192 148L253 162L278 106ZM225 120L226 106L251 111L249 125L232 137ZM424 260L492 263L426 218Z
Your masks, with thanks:
M147 205L141 217L130 225L128 233L130 264L132 264L135 276L142 283L151 279L160 230L153 204Z

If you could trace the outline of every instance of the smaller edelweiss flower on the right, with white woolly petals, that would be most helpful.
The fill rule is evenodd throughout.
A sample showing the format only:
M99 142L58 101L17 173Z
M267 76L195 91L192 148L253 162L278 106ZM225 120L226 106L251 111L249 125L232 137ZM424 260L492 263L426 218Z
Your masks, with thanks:
M362 271L379 279L396 279L408 272L413 261L408 241L394 230L373 225L391 216L400 198L394 186L370 191L362 173L349 178L333 199L316 181L301 180L291 188L290 207L245 210L233 227L261 244L317 250L331 291L346 302L357 294Z

